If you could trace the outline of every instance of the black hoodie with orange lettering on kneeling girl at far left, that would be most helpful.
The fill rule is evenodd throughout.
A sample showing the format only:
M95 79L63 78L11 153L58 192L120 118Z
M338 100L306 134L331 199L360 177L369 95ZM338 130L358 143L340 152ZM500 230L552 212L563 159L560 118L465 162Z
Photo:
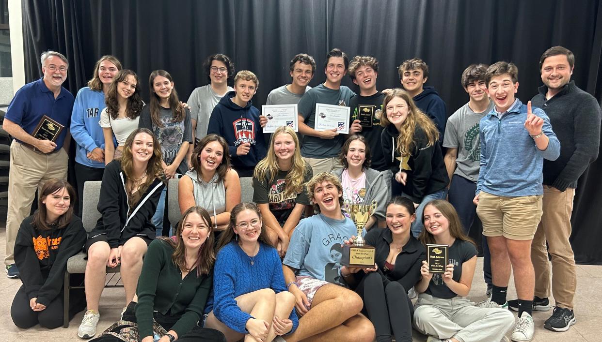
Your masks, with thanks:
M14 262L28 299L48 306L63 288L67 260L81 251L86 233L81 219L73 216L66 227L36 229L34 216L21 223L14 243Z

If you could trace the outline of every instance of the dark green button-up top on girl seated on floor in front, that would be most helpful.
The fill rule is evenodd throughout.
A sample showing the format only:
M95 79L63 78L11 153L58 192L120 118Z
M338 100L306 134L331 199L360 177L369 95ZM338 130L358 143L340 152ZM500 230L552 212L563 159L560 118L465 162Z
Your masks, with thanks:
M199 323L213 284L209 275L196 275L191 270L182 279L182 272L172 261L173 248L163 240L153 240L144 256L138 279L138 304L135 308L140 338L152 336L154 311L179 317L172 330L182 336Z

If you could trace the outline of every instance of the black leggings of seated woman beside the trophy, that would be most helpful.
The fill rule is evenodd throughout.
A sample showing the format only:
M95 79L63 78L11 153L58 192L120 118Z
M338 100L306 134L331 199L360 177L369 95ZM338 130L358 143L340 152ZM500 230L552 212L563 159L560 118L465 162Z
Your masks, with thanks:
M379 272L370 272L355 292L364 299L364 310L374 325L376 340L391 341L391 329L397 342L412 342L414 306L399 282L384 284Z

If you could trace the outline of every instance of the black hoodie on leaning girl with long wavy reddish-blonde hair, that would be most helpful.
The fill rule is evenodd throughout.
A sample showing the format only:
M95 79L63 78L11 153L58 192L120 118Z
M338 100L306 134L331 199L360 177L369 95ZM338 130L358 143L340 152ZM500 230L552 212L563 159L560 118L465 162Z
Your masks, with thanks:
M417 126L414 130L414 144L410 148L410 156L402 164L401 153L397 148L398 135L399 132L393 124L383 129L380 142L382 142L385 160L393 175L400 171L400 164L403 165L401 167L408 174L408 179L406 185L400 185L402 191L414 203L421 203L424 196L444 189L449 183L441 147L439 144L427 147L426 134Z

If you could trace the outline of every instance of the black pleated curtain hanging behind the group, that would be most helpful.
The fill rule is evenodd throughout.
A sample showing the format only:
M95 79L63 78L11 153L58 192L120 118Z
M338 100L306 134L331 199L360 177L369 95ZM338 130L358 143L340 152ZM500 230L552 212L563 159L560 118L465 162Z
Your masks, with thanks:
M202 61L212 53L234 58L236 70L259 78L253 103L290 83L288 62L300 52L314 56L310 85L324 81L324 56L340 47L352 58L379 60L379 89L399 87L397 66L420 57L448 115L468 101L460 84L471 63L505 60L519 69L518 97L526 102L541 85L539 56L562 45L576 56L573 79L602 99L602 4L600 0L221 0L76 1L22 0L25 76L41 76L40 53L64 53L64 84L73 94L92 76L101 55L117 56L140 77L165 69L180 99L208 83ZM349 78L344 85L358 88ZM509 160L509 162L511 162ZM571 242L578 263L602 264L602 162L580 178Z

